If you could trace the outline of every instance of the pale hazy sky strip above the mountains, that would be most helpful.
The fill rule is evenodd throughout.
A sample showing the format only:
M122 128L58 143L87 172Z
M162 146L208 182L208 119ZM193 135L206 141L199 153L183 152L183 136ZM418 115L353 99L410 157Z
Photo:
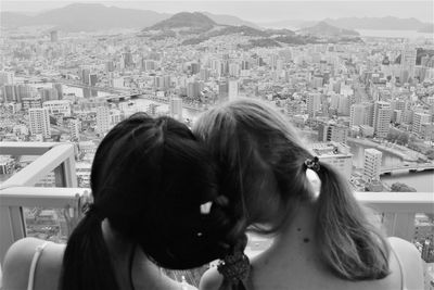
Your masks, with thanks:
M414 17L434 23L434 1L69 1L69 0L13 0L1 1L1 11L40 12L73 2L98 2L105 5L177 13L208 11L230 14L253 22L280 20L322 20L346 16Z

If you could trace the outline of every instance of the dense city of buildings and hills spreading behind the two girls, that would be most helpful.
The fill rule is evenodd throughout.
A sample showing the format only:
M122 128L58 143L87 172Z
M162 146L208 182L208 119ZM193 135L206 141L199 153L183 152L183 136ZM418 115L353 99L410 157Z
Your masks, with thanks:
M310 28L220 25L201 13L136 30L2 27L0 141L74 143L78 185L89 188L99 142L133 113L192 126L209 108L255 98L284 114L355 191L434 192L433 35ZM36 157L0 155L0 182ZM54 173L38 186L55 187ZM25 214L28 235L66 239L62 210ZM413 242L433 263L433 216L417 214Z

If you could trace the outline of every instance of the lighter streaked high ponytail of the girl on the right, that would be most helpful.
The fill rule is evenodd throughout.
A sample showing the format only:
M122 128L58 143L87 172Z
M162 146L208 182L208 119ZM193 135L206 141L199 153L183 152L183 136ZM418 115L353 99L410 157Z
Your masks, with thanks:
M322 257L339 277L347 280L382 279L390 274L388 243L371 225L348 182L321 163L317 239Z

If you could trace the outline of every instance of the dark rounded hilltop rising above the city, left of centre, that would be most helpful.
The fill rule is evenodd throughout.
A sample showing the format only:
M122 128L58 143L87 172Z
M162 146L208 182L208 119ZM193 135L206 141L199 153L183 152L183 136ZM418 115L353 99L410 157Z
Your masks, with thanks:
M148 27L145 30L168 30L177 28L209 30L215 25L217 25L217 23L200 12L180 12Z

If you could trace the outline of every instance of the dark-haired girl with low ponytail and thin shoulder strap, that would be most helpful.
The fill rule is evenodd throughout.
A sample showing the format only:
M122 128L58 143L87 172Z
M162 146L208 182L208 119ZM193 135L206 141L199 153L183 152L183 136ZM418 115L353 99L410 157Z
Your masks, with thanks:
M224 215L206 206L217 198L215 176L186 125L132 115L99 146L93 203L66 247L15 242L5 256L3 289L186 289L158 266L193 268L225 251Z

